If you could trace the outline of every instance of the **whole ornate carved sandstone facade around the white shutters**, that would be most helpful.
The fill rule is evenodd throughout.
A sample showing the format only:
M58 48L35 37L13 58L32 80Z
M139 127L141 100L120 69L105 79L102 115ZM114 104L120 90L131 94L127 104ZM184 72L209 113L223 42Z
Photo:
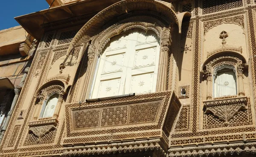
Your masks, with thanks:
M0 145L2 156L256 154L254 1L102 1L104 8L94 14L71 8L98 1L60 2L54 6L72 17L48 17ZM48 14L54 13L58 9ZM97 65L110 42L137 30L153 32L159 41L155 92L92 99ZM226 94L227 87L235 94ZM43 117L51 98L58 99L48 106L54 112Z

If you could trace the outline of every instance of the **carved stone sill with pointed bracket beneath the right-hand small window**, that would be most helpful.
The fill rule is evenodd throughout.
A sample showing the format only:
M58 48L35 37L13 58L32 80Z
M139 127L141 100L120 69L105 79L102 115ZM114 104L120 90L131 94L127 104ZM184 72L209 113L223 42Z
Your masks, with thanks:
M233 119L239 111L247 109L247 97L204 101L203 103L204 111L224 121L226 126L228 126L229 121Z

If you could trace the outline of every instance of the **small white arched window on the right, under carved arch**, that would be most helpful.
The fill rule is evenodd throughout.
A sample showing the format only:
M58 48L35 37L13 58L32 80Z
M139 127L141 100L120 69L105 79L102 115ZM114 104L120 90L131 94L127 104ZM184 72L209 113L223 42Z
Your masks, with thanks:
M214 97L223 97L236 95L236 70L235 67L222 65L215 69L214 79Z

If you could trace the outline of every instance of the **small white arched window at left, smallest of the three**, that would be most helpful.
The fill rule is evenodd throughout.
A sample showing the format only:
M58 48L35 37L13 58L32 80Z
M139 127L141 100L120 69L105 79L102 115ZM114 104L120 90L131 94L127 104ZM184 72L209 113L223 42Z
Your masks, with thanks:
M58 104L58 94L54 94L48 98L48 100L43 104L42 111L40 114L41 118L52 117Z

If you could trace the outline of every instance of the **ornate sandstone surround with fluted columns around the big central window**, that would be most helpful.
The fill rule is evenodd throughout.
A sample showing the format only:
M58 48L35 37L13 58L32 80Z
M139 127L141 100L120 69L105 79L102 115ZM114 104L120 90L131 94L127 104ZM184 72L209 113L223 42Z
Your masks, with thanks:
M171 86L168 85L168 83L171 82L170 79L172 78L168 77L170 76L171 72L167 67L169 67L169 64L171 64L171 27L166 26L159 20L152 17L145 17L143 21L138 20L138 22L132 23L120 22L118 25L110 26L109 28L106 28L101 33L93 37L93 40L90 42L90 44L87 45L87 48L85 48L88 58L84 64L87 63L85 67L87 67L88 73L86 73L83 78L84 83L81 87L82 91L78 95L79 100L87 100L90 98L89 93L94 80L94 73L96 72L98 56L102 53L105 45L109 42L111 37L116 36L123 31L128 31L134 28L140 28L145 31L151 30L157 34L157 37L160 41L160 56L156 92L170 90Z

